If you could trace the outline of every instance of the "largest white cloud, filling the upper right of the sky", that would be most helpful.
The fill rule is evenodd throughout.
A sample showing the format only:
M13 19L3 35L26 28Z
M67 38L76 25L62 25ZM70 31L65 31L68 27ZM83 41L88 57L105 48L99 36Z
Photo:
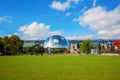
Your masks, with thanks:
M97 31L100 38L120 38L120 6L111 11L101 6L91 8L78 21L81 25L88 25Z

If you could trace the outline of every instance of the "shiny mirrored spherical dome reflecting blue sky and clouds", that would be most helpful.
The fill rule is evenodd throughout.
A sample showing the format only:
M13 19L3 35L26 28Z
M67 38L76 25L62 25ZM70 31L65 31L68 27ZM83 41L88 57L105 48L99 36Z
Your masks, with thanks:
M48 37L44 43L45 48L69 48L68 41L60 35Z

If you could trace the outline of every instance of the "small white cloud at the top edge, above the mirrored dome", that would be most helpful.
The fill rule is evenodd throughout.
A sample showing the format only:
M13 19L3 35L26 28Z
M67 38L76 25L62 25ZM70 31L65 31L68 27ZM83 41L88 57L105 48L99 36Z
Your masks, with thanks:
M53 1L52 4L50 5L50 7L52 9L56 9L58 11L65 11L65 10L71 8L72 2L77 4L79 2L79 0L67 0L66 2L63 2L63 3L60 1Z

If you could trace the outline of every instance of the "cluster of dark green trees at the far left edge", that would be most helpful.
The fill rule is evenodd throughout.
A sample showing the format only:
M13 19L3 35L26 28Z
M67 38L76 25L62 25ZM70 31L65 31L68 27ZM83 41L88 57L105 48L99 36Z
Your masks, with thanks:
M22 51L23 41L17 35L0 37L0 54L13 55Z

